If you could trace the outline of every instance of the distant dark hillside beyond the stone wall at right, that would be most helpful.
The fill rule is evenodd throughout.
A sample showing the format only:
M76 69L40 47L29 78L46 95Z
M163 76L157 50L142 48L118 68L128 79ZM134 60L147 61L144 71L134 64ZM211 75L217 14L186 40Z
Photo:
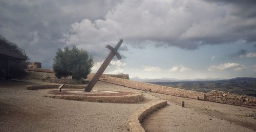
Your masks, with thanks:
M219 81L183 81L183 82L151 82L152 84L175 87L180 89L210 92L212 90L246 94L256 97L256 78L237 77Z

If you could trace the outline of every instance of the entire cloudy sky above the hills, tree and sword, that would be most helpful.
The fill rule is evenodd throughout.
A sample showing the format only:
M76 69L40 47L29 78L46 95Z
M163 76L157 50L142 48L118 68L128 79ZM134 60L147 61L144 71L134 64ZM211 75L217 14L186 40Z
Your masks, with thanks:
M256 77L256 1L0 0L0 35L52 68L58 48L93 56L95 73L130 78Z

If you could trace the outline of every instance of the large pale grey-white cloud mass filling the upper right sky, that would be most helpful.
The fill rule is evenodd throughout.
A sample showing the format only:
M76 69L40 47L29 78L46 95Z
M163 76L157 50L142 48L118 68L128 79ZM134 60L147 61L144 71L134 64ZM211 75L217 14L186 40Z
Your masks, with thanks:
M75 23L66 43L82 46L78 41L83 39L81 36L83 42L95 36L101 38L95 40L102 42L122 38L137 48L154 44L196 49L205 44L256 42L253 5L252 1L124 1L108 12L105 19ZM89 34L91 31L94 35Z

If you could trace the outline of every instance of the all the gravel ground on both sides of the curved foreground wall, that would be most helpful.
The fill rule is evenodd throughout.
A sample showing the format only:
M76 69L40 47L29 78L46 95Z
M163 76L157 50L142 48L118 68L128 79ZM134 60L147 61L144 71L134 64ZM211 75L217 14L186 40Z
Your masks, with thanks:
M143 93L140 103L100 103L47 98L49 90L27 90L40 81L0 80L0 131L127 131L130 115L159 98L169 105L148 116L146 131L253 131L256 109L176 96L144 93L98 82L95 90ZM159 97L159 98L158 98ZM185 107L181 107L185 101ZM249 129L250 128L250 129Z

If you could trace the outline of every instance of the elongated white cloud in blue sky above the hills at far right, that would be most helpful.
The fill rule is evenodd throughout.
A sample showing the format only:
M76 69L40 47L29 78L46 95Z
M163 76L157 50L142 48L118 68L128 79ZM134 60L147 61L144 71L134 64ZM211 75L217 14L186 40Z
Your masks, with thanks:
M233 69L233 70L239 71L239 70L245 69L245 66L239 63L224 63L217 66L213 65L208 67L209 71L227 70L227 69Z

